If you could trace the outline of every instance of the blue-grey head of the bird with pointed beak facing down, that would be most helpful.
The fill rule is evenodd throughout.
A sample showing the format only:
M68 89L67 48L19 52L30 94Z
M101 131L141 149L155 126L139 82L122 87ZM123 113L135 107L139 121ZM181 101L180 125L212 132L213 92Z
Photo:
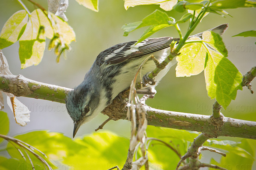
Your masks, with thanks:
M93 119L97 113L104 109L100 105L100 95L96 88L83 84L68 92L66 107L74 122L73 137L82 124Z

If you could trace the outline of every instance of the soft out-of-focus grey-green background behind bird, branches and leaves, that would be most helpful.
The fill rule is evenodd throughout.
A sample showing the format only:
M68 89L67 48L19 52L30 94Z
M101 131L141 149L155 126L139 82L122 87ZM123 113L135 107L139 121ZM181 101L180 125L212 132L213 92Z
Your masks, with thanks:
M23 2L30 11L34 10L31 3L26 0ZM47 1L38 0L36 2L47 8ZM0 28L12 14L21 9L17 1L1 0ZM12 74L22 74L24 77L36 81L74 88L83 81L85 73L90 69L101 51L121 42L137 40L145 29L140 28L129 34L128 37L123 37L121 27L125 23L141 21L156 9L160 9L159 5L136 6L126 11L123 0L99 0L99 12L94 12L80 6L76 1L70 0L65 14L69 19L69 25L76 33L76 42L71 43L72 49L67 53L67 60L61 57L57 64L53 51L46 49L39 65L20 69L17 42L4 48L3 53L8 60ZM194 33L229 23L228 30L222 36L223 41L229 52L228 58L244 75L256 65L256 45L254 44L256 38L232 36L243 31L256 29L256 9L239 8L230 9L227 12L233 17L224 18L209 14L202 20ZM168 11L167 13L175 19L179 19L183 15L175 11ZM186 31L187 24L181 24L180 27L182 31ZM174 27L169 27L151 37L163 36L178 37L178 34ZM252 82L252 88L256 92L256 80ZM147 101L151 107L205 115L212 113L212 104L215 101L207 96L204 73L192 77L175 77L175 67L173 67L161 80L156 90L157 94L154 99ZM5 105L4 111L9 114L10 119L9 136L47 129L72 137L73 121L67 114L64 104L25 97L18 97L18 99L31 111L30 122L26 127L17 125L11 110ZM256 94L250 94L246 88L243 91L238 91L236 100L231 102L227 110L222 109L222 113L227 117L256 121ZM107 116L99 114L95 119L80 127L77 136L93 132L107 118ZM126 120L111 121L104 126L104 129L128 137L130 123Z

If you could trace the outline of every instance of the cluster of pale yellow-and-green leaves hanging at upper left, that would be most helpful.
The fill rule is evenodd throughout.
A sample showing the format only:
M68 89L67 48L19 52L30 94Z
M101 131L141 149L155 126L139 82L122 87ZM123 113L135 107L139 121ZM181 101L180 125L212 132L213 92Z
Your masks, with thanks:
M46 37L51 39L48 49L55 48L59 62L61 54L69 50L69 44L75 40L75 33L65 21L45 10L38 8L32 13L20 10L3 26L0 49L19 40L21 68L38 65L44 55Z

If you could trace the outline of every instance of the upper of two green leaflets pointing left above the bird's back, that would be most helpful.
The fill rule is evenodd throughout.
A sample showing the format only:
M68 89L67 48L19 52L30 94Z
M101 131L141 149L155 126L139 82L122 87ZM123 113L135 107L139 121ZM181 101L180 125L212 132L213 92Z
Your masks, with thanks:
M171 17L168 17L168 15L165 12L155 10L151 14L149 14L147 17L145 17L142 22L136 22L136 23L129 23L122 26L122 29L125 31L124 36L127 36L131 31L134 31L138 28L144 27L144 26L157 26L162 24L169 25L169 21L174 21ZM172 26L172 25L169 25ZM154 34L154 33L152 33Z

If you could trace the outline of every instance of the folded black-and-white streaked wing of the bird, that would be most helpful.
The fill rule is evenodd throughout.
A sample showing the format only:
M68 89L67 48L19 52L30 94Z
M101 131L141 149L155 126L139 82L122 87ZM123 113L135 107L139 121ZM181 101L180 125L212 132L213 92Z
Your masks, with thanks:
M147 54L160 51L164 48L168 48L172 41L177 41L178 38L172 37L160 37L146 39L140 43L137 41L124 42L114 45L111 48L102 51L96 58L96 62L99 65L105 64L117 64L124 62L127 59L133 59L142 57Z

